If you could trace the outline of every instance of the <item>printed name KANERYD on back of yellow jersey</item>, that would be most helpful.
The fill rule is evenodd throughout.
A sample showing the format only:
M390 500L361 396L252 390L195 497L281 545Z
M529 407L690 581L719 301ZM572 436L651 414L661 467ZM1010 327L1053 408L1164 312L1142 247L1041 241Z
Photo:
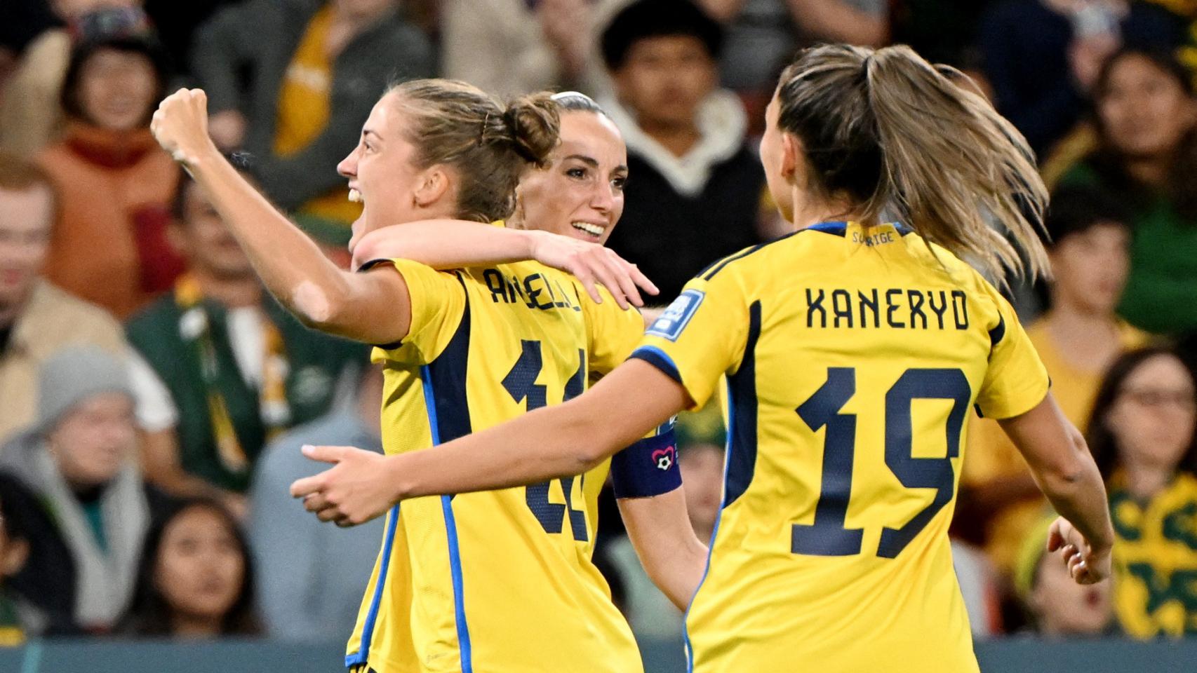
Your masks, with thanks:
M967 330L964 290L806 288L808 328Z

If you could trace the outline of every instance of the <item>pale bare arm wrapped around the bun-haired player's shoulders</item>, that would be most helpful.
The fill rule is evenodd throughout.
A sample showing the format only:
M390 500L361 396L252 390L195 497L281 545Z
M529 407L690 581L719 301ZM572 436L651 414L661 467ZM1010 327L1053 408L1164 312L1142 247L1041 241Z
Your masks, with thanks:
M572 274L590 296L602 304L595 283L615 298L620 308L644 306L637 286L657 294L636 264L609 247L545 231L509 230L466 220L425 220L375 230L353 249L353 268L375 259L412 259L433 269L486 267L535 259Z

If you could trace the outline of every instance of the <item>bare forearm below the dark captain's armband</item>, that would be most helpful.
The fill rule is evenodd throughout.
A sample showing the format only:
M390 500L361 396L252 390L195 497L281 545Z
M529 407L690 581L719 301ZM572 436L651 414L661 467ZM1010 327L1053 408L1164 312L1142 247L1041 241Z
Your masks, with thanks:
M689 522L685 488L616 501L640 565L661 593L682 611L689 607L706 570L706 545Z

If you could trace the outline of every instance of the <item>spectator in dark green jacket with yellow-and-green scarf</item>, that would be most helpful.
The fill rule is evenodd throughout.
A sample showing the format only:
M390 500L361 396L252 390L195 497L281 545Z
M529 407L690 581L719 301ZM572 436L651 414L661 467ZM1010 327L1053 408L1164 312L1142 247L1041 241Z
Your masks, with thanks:
M233 494L249 487L266 441L324 414L333 381L364 351L278 306L190 179L168 234L189 271L126 326L144 469L164 490L221 497L241 513Z

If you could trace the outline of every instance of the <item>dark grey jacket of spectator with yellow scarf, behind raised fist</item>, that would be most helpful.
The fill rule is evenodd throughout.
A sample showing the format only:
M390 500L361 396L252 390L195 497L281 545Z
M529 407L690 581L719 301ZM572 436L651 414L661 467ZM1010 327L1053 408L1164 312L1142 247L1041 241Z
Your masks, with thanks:
M275 157L279 90L318 0L245 0L226 7L196 31L192 71L208 94L211 112L239 109L249 129L244 149L263 191L294 208L344 184L336 164L358 142L361 124L388 84L431 77L432 48L418 29L391 13L356 36L333 63L328 127L297 154ZM242 96L248 71L249 91ZM239 104L243 103L243 104Z

